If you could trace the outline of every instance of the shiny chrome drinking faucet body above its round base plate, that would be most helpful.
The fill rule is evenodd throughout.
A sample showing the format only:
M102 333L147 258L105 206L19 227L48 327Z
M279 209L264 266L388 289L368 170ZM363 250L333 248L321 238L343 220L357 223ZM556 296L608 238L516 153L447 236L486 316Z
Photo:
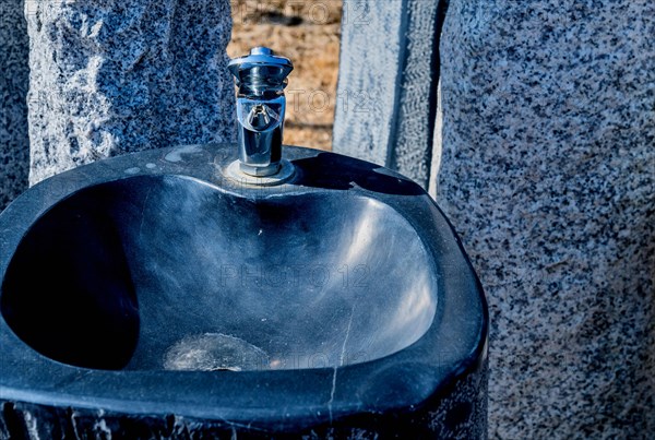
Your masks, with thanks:
M258 178L274 176L282 168L284 87L294 66L266 47L255 47L233 59L228 69L238 87L239 169Z

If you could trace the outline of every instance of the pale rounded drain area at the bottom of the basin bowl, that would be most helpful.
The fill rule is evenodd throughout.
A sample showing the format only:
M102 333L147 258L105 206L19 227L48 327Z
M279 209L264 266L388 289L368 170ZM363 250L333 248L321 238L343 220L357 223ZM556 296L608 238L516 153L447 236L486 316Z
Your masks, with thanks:
M246 341L221 333L187 336L164 355L164 368L179 371L248 371L266 368L269 355Z

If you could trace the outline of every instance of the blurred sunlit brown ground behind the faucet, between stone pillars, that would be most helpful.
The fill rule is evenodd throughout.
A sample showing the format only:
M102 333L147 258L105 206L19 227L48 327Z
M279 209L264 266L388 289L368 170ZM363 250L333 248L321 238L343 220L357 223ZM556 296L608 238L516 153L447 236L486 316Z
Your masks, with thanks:
M233 0L230 58L266 46L294 62L284 143L332 148L342 0Z

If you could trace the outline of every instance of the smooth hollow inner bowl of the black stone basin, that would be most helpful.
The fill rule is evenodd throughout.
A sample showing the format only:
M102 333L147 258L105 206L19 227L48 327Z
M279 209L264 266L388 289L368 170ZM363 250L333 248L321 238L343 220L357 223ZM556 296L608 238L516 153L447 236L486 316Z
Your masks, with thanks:
M432 267L412 225L376 199L250 200L143 176L45 213L16 250L1 306L27 345L78 367L194 369L194 352L203 369L233 341L206 335L222 334L247 343L226 367L334 367L391 355L428 330Z

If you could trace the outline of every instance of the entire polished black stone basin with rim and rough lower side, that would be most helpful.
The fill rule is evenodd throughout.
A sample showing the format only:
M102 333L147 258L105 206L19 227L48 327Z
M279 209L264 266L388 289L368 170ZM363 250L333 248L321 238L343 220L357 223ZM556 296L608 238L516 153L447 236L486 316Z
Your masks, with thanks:
M0 437L25 412L61 437L481 429L484 295L425 191L297 147L251 187L233 152L104 160L0 215Z

